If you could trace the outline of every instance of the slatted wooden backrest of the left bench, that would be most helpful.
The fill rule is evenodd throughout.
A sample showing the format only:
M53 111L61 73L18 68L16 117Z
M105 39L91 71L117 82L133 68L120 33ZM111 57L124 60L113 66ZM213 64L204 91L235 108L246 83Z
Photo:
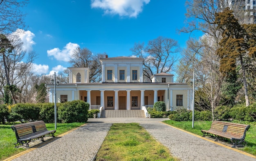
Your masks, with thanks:
M17 139L22 138L22 136L27 136L29 134L47 130L44 121L21 123L12 125L11 128L13 131L15 131Z

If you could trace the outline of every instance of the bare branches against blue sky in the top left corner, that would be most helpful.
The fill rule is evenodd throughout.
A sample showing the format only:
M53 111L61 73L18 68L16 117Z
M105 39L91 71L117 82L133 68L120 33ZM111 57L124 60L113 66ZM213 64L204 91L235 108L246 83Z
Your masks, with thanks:
M25 27L24 17L20 9L28 4L29 0L0 0L0 33L10 34L16 29Z

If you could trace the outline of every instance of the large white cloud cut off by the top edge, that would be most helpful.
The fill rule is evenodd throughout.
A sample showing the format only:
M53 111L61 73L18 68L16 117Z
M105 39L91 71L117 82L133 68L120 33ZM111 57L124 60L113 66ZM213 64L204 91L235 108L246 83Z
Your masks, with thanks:
M137 17L150 0L92 0L92 8L101 8L104 14Z

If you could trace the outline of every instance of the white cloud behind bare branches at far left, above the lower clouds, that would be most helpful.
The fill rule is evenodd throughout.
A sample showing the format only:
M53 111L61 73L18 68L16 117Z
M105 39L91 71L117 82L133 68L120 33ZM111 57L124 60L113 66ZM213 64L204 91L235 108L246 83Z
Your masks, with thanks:
M22 29L17 29L15 32L13 32L11 34L11 36L17 36L20 38L20 40L23 42L22 45L22 50L24 51L32 51L33 49L33 45L36 44L36 42L34 42L33 38L35 37L35 34L32 33L31 31L27 30L22 30Z

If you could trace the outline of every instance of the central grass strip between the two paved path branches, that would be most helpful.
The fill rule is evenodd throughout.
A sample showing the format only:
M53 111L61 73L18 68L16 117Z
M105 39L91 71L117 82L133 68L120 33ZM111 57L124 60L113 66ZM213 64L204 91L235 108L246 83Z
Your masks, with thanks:
M97 161L177 161L138 123L115 123L103 141Z

